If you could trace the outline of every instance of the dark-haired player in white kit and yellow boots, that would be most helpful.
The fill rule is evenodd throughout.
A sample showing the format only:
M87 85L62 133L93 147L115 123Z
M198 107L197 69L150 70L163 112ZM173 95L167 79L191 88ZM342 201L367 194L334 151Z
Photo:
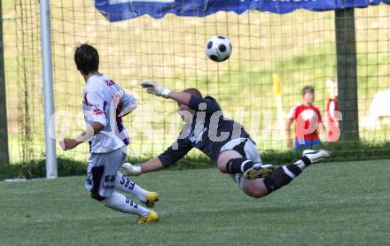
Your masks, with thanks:
M71 150L89 141L85 187L93 199L113 210L138 215L138 224L157 221L159 217L155 211L114 190L136 196L148 207L158 200L156 192L141 188L118 171L127 158L130 141L121 118L136 108L136 99L124 92L116 81L98 72L98 50L89 44L82 44L75 50L74 62L86 82L82 110L87 129L74 139L65 138L59 144L63 150Z

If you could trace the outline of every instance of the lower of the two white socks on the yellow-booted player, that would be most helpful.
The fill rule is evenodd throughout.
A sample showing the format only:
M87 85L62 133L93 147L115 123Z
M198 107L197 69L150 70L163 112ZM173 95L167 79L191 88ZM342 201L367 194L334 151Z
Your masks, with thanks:
M105 200L103 200L102 203L113 210L133 213L140 216L146 216L150 211L118 192L113 192L111 196L105 197Z

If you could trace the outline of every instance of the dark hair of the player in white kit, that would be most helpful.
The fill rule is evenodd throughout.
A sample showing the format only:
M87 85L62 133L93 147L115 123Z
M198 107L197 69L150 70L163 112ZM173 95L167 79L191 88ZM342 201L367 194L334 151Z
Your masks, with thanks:
M99 54L93 46L88 43L82 43L74 51L74 63L77 70L83 74L98 72Z

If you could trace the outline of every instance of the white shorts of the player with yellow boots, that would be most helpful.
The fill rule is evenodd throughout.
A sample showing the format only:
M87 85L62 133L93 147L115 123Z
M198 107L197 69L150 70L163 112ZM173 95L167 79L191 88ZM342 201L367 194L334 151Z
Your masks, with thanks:
M85 188L91 193L98 193L99 196L111 196L115 188L116 173L127 157L126 151L122 149L104 154L91 153Z

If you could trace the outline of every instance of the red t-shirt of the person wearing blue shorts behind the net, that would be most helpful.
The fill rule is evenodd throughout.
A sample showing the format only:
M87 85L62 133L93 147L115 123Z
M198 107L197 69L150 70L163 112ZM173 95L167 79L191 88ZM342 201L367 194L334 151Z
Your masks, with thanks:
M295 119L295 140L303 135L304 140L316 140L318 137L318 123L322 123L320 110L314 106L304 104L293 106L288 114L289 119Z

